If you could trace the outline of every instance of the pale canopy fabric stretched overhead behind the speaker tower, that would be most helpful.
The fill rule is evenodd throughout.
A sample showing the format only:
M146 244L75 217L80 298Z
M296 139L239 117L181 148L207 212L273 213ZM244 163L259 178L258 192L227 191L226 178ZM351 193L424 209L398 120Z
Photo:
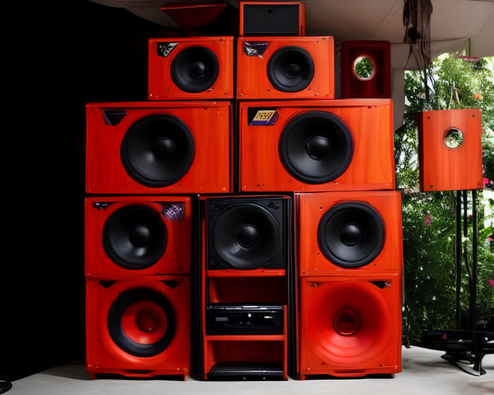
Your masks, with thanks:
M125 8L149 21L176 28L160 7L177 0L92 0ZM190 1L190 0L189 0ZM238 6L238 0L228 0ZM410 46L403 42L403 0L305 0L308 36L334 36L336 52L343 40L391 42L394 125L403 122L404 69L416 68ZM432 0L431 57L458 50L470 40L471 56L494 55L494 0ZM338 59L335 62L338 71ZM339 79L335 74L336 81ZM338 94L339 84L336 83Z

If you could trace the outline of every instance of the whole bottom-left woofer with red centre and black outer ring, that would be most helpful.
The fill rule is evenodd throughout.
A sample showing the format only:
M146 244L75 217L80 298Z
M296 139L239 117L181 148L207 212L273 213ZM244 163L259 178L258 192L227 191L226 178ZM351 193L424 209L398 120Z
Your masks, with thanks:
M108 312L108 331L117 346L133 356L155 356L175 334L175 315L159 292L137 288L123 292Z

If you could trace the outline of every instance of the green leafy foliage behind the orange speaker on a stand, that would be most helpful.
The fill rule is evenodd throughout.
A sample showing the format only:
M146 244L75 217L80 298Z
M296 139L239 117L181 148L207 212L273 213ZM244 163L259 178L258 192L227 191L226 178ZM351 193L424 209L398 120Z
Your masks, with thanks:
M484 177L494 179L494 78L489 60L466 62L445 54L434 60L425 73L406 72L407 110L403 125L395 132L396 186L403 191L403 248L405 301L403 344L418 344L424 329L456 327L455 323L455 192L419 193L418 133L415 114L421 111L480 108L484 130ZM427 81L427 84L425 83ZM427 88L426 88L427 86ZM494 199L478 195L478 289L479 327L494 325L494 251L487 241L492 226L485 228L484 205ZM471 209L471 202L470 209ZM468 220L470 223L471 220ZM462 228L461 228L462 229ZM469 227L468 263L471 269L473 238ZM463 266L462 315L468 311L469 276ZM493 329L494 330L494 329Z

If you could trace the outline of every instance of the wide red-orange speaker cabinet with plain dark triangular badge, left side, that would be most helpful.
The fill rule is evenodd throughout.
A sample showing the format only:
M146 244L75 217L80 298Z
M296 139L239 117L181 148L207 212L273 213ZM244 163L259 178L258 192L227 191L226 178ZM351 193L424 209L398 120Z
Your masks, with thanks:
M231 190L229 102L86 105L86 192Z

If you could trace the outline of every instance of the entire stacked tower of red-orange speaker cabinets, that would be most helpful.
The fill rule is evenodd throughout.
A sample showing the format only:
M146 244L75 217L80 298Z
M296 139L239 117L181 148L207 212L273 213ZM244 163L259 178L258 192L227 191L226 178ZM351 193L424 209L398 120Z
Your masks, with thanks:
M342 99L303 2L148 50L148 101L86 105L91 377L399 372L389 43L343 42Z

